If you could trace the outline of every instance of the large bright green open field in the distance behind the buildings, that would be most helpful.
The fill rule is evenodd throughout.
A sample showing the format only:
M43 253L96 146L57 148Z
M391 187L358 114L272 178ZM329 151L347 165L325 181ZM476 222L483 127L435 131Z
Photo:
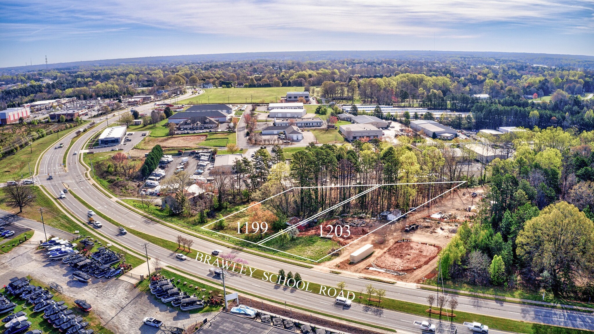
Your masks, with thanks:
M199 103L271 103L280 101L287 92L303 92L303 87L262 87L262 88L213 88L204 93L181 100L182 104Z

